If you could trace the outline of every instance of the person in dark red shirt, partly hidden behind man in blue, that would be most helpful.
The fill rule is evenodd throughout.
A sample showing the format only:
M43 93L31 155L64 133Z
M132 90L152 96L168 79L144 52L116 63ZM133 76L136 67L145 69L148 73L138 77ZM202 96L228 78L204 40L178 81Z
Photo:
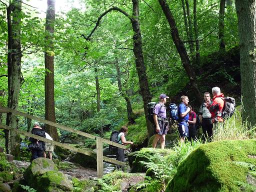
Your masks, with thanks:
M188 112L188 124L189 124L189 127L188 127L188 140L189 141L192 141L193 140L197 140L196 136L197 136L197 129L196 129L196 126L195 126L195 123L196 123L196 114L195 112L193 111L193 108L191 105L187 105L190 110Z

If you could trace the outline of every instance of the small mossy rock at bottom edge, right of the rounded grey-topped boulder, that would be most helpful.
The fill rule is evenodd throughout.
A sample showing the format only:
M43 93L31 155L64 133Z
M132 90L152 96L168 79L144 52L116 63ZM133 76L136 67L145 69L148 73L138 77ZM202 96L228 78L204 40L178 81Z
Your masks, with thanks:
M93 191L92 188L95 187L96 181L90 180L90 179L81 179L79 180L76 177L72 178L73 186L76 188L76 190L80 191Z

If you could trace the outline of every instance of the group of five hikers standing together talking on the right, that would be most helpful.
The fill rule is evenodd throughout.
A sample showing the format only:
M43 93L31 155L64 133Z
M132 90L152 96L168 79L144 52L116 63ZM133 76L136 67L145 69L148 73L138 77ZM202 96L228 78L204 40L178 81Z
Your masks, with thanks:
M221 114L225 106L224 95L220 92L220 88L215 86L212 88L212 100L210 93L204 93L204 101L199 107L199 121L202 126L203 139L211 140L213 124L223 122L224 118ZM166 94L159 96L159 103L155 104L153 111L154 134L152 147L156 147L156 143L160 140L160 147L164 148L165 134L168 131L168 119L166 118ZM177 122L180 142L184 142L185 138L189 140L197 140L196 114L192 107L188 104L188 97L183 95L180 97L181 103L177 107Z

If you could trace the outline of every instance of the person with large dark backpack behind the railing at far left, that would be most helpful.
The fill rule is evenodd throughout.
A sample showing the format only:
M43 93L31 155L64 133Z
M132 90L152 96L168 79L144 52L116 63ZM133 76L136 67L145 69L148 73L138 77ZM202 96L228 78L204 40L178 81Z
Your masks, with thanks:
M34 122L31 133L45 137L45 131L39 126L38 122ZM28 148L31 149L32 160L37 157L43 157L43 151L45 150L44 142L32 137L29 137L29 141L31 141L31 143L28 145Z

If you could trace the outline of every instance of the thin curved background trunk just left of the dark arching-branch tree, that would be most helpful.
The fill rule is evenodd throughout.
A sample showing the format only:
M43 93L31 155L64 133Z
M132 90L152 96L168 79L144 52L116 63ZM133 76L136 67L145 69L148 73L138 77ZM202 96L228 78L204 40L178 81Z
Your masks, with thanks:
M116 73L117 73L118 89L119 89L119 92L121 93L121 95L123 96L123 98L126 101L127 118L129 120L129 122L131 124L133 124L135 121L134 121L134 115L133 115L133 111L132 111L132 107L131 107L131 103L130 103L130 98L127 94L127 91L122 90L120 67L119 67L119 64L118 64L117 60L115 61L115 68L116 68Z

